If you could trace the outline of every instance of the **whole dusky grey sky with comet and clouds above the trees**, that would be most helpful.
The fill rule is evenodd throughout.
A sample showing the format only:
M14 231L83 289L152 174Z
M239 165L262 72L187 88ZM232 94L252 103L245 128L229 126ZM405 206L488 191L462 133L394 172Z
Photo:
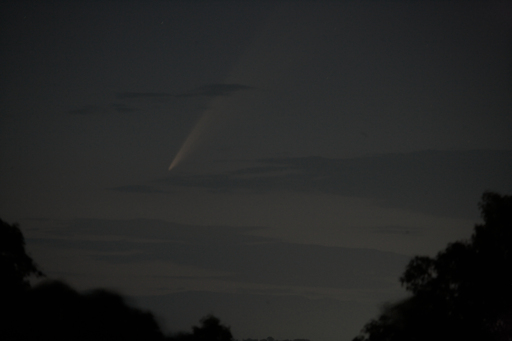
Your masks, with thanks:
M350 340L512 193L511 2L0 6L0 217L169 330Z

